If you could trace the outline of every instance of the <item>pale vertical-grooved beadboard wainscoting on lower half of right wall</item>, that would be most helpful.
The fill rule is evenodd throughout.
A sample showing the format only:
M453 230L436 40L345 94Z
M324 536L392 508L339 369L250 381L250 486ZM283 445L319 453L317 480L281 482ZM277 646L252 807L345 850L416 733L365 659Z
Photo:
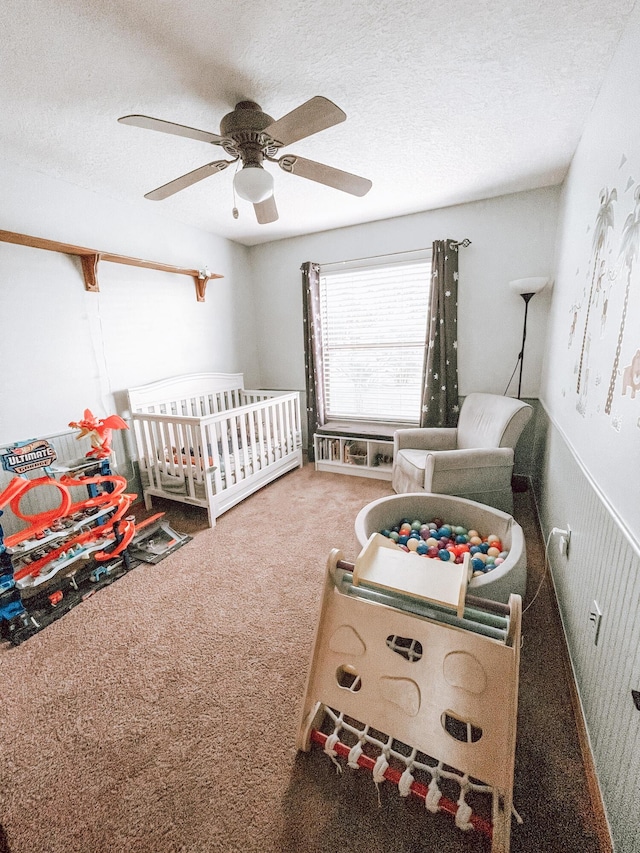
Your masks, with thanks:
M629 472L637 476L637 472ZM616 853L640 850L640 545L540 406L533 488ZM571 528L561 552L556 528ZM596 633L590 611L602 619Z

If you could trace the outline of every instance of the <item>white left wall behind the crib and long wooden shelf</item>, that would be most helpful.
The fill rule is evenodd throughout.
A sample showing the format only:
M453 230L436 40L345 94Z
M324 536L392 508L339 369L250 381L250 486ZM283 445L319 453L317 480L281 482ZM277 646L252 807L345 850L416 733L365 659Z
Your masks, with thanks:
M0 243L0 444L62 431L85 408L125 408L131 385L181 373L244 371L259 384L248 250L40 174L0 166L0 228L175 266L189 276L102 262L100 293L78 258ZM147 207L148 205L148 207Z

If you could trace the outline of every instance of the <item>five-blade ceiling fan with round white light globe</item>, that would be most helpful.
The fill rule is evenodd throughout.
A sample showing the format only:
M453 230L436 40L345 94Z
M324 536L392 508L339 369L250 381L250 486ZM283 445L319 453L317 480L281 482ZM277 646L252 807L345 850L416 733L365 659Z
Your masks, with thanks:
M253 203L258 222L260 225L265 225L268 222L275 222L278 218L278 209L273 196L273 176L264 168L265 160L277 163L283 171L291 175L308 178L351 195L363 196L369 192L372 184L366 178L343 172L333 166L325 166L315 160L298 157L296 154L277 157L280 149L286 145L333 127L344 121L346 117L346 113L340 107L318 95L277 121L262 112L261 107L253 101L240 101L235 109L227 113L220 122L220 135L159 118L151 118L151 116L127 115L122 116L118 121L122 124L131 124L135 127L144 127L148 130L158 130L219 145L232 158L231 160L214 160L212 163L200 166L146 193L145 198L152 201L168 198L209 175L222 172L232 163L241 161L242 168L236 172L233 179L234 189L241 198ZM237 212L234 209L234 216L236 215Z

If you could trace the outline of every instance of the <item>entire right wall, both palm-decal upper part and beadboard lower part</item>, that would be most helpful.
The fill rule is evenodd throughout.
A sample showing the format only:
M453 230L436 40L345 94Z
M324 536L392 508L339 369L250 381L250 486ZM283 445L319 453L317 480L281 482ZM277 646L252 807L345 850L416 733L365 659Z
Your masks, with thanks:
M639 51L637 6L563 187L535 478L545 536L572 529L548 556L616 853L640 850Z

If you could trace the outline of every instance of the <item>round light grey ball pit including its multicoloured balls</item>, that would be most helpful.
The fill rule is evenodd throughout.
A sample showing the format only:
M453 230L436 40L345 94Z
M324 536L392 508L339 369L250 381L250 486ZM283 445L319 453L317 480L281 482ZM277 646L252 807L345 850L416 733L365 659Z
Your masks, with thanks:
M473 570L470 594L506 603L513 592L524 599L522 528L493 507L451 495L392 495L358 513L355 533L359 549L372 533L382 533L403 550L442 560L443 570L447 562L461 562L468 549Z

